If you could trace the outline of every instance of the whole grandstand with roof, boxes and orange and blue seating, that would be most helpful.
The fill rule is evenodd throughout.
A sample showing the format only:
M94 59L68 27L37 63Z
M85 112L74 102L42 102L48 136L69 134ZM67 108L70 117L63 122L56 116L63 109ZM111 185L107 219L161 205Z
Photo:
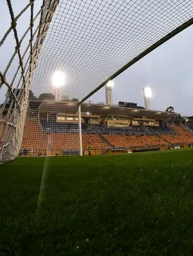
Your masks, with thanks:
M30 102L20 155L84 155L187 147L192 133L168 120L179 113L74 103Z

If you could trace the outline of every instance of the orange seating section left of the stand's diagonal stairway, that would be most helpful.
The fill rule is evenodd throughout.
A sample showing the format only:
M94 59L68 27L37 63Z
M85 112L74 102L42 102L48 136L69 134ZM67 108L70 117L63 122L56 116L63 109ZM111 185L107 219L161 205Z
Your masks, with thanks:
M29 127L33 127L33 133ZM78 133L68 133L64 130L58 132L58 128L56 130L50 128L50 130L46 132L46 128L41 128L37 121L27 120L24 126L22 150L33 151L35 154L39 151L42 154L47 150L61 153L61 150L78 149ZM82 134L83 149L88 148L89 141L92 148L109 147L96 134Z

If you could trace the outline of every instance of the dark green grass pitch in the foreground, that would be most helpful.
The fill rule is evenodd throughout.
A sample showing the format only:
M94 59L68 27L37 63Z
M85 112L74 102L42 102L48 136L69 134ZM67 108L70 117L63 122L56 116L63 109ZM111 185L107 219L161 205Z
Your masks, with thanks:
M0 255L192 255L193 150L0 166ZM2 254L1 254L2 253Z

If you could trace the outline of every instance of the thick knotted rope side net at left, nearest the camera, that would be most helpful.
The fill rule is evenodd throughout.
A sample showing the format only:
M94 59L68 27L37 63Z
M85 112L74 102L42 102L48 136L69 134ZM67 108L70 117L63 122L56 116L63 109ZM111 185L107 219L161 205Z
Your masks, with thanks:
M35 0L30 0L28 5L23 6L19 14L15 15L12 1L6 1L11 26L3 35L0 46L1 51L6 49L6 51L13 50L13 52L10 59L7 62L4 61L5 65L1 66L3 71L0 71L0 95L6 92L5 101L0 108L0 162L14 159L21 148L33 70L37 64L41 44L46 36L51 17L58 4L58 1L45 0L37 14L34 14L34 2ZM21 34L17 23L26 12L28 14L27 27ZM14 47L3 48L2 46L8 44L11 33L14 35L12 38ZM1 54L3 55L3 52Z

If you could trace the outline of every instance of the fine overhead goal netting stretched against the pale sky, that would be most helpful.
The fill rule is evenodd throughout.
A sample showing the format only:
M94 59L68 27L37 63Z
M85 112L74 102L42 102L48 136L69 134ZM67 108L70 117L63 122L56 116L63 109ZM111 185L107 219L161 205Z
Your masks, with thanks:
M63 92L84 99L161 37L193 16L192 1L60 1L44 41L32 89L53 92L51 75L66 74Z

